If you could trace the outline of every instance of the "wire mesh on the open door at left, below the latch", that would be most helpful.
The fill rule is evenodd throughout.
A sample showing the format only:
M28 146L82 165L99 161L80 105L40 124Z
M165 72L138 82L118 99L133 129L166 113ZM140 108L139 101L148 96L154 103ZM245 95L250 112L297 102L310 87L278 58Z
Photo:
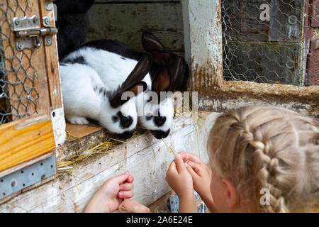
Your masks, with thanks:
M16 121L37 112L39 94L33 50L18 51L12 20L30 16L27 0L0 0L0 124Z

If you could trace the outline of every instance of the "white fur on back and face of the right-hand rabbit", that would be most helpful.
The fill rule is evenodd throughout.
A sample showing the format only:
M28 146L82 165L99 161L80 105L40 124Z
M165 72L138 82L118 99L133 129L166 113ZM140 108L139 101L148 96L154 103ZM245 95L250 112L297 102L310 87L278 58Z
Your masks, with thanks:
M101 81L108 89L117 89L138 63L136 60L122 57L116 53L91 47L82 48L72 52L65 58L65 60L72 60L77 57L84 57L86 63L96 70ZM143 81L147 84L147 91L150 91L152 87L150 74L147 73ZM136 97L138 121L140 121L144 128L149 130L168 131L174 122L174 105L172 99L167 98L159 104L157 101L147 102L149 96L147 96L146 92L138 94ZM161 116L165 116L167 119L164 125L160 127L156 126L154 121L146 120L146 116L154 116L157 109L159 109ZM125 111L123 111L123 113L125 113Z

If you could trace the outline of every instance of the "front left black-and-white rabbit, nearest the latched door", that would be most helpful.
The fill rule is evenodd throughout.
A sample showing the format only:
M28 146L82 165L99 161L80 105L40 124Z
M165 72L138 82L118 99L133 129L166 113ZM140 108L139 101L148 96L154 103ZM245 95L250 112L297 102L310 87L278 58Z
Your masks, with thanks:
M130 138L138 121L135 96L147 89L142 82L150 70L150 57L142 57L125 76L109 70L104 84L96 70L81 62L60 64L61 87L65 117L75 124L87 124L87 118L99 121L111 133ZM117 67L117 65L113 65ZM130 92L129 99L122 99Z

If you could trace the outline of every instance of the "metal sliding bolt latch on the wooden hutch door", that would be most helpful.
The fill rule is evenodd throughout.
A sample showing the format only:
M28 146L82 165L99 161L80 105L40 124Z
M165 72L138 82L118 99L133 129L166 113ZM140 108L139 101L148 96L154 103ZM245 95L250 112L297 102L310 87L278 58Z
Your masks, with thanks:
M43 17L43 26L40 27L38 16L13 18L13 32L16 35L17 50L40 48L41 36L45 36L44 45L52 44L52 35L57 34L57 28L50 26L50 18Z

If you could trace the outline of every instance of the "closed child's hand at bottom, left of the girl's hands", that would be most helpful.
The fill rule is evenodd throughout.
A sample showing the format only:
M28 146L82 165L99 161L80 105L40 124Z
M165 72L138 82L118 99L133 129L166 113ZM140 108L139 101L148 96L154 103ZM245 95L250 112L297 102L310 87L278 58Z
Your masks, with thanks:
M123 199L129 199L133 196L133 180L133 176L129 172L107 179L89 201L84 212L110 213L116 211Z

